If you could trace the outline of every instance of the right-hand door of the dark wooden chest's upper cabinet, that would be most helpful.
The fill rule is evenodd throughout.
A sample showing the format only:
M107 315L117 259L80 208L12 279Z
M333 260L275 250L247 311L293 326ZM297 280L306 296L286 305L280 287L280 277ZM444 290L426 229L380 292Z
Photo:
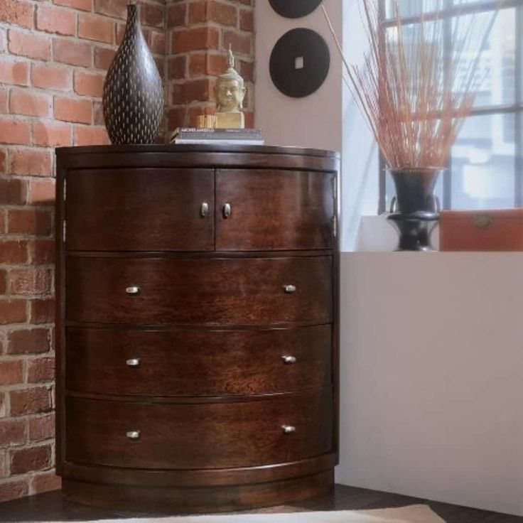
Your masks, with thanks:
M332 248L333 180L333 173L217 171L216 249Z

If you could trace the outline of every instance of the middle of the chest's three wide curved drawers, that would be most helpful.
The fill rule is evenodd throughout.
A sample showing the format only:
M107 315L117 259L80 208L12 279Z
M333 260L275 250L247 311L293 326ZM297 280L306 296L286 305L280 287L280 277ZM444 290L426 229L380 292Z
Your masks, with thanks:
M222 396L331 382L332 326L281 330L69 328L67 387L94 394Z

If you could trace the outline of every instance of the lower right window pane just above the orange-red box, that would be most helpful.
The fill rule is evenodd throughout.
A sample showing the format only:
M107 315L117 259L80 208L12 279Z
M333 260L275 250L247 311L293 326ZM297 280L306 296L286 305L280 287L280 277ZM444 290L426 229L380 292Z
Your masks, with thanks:
M452 153L453 209L514 207L514 114L465 120Z

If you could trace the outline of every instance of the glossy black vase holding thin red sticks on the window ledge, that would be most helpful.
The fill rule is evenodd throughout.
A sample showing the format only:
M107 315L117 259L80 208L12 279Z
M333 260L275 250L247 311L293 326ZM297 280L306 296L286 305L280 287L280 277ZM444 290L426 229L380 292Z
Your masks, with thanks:
M439 220L434 186L441 168L389 169L396 198L388 220L399 232L398 251L432 251L431 232Z

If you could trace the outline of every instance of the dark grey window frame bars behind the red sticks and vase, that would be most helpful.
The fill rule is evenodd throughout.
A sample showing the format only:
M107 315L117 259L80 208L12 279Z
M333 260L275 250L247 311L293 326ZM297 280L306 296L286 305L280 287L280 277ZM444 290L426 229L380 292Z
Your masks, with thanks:
M394 26L394 19L387 18L387 0L379 1L379 24L383 31ZM455 16L480 14L495 11L496 9L515 9L515 59L514 59L514 103L497 104L473 107L470 116L488 116L491 114L514 114L514 207L523 207L523 0L505 0L500 5L499 0L476 1L471 4L454 4L454 0L442 0L443 10L439 14L427 12L414 16L401 18L403 25L419 23L422 19L431 20L440 16L445 26L443 28L445 41L443 41L443 60L451 59L450 42L452 36L451 23ZM444 70L448 70L447 67ZM386 164L382 154L379 155L379 202L378 214L389 210L387 206L387 173ZM452 158L449 159L447 171L443 175L443 209L452 208Z

